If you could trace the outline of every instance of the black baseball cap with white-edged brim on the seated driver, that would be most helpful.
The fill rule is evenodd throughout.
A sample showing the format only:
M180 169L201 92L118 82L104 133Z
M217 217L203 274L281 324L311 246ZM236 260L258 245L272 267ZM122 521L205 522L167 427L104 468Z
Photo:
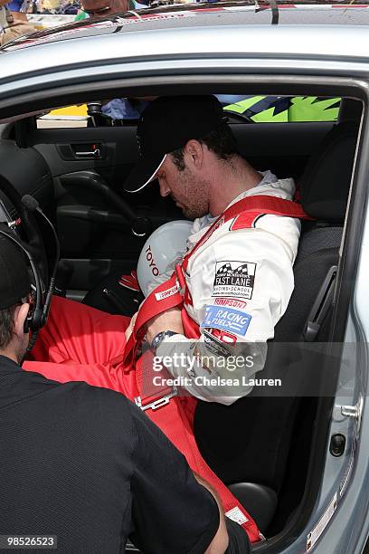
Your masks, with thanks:
M137 192L147 186L166 154L184 147L190 139L203 139L225 121L222 104L215 96L162 96L153 100L138 121L139 160L125 189Z

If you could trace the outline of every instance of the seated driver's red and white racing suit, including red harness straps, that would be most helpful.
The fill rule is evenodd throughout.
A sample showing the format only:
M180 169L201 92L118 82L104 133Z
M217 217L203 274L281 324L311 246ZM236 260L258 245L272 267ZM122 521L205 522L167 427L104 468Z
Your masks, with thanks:
M156 351L158 356L163 349L166 355L179 348L182 352L185 347L190 353L204 349L227 359L228 350L221 347L230 349L235 341L247 352L253 352L256 341L265 342L273 336L273 327L286 310L293 289L297 218L305 216L290 201L294 188L291 179L261 182L235 198L213 224L206 218L196 220L196 234L190 237L194 247L169 281L162 282L143 302L127 344L124 330L128 318L54 297L48 323L32 352L37 361L24 362L24 369L45 377L61 382L83 380L135 400L185 455L194 472L213 484L224 512L240 523L251 541L260 540L255 522L197 449L193 431L196 399L179 396L167 386L159 392L145 392L145 379L153 375L153 354L146 351L138 357L137 350L143 342L147 320L174 306L182 310L185 335L166 339ZM264 352L255 358L259 365L250 374L262 368ZM213 366L203 369L198 365L192 370L209 375L209 371L218 371L216 361ZM235 399L234 391L227 387L222 388L221 396L217 387L202 391L196 385L188 390L208 400L222 397L228 403ZM249 390L247 387L237 394Z

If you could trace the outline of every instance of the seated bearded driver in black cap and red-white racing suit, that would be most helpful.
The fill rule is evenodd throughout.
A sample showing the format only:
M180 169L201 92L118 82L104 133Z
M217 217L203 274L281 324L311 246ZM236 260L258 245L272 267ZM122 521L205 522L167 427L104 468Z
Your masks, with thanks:
M180 386L197 398L230 404L248 394L248 379L263 368L266 341L293 290L298 217L304 214L291 201L292 179L261 175L241 158L222 106L212 96L153 101L140 119L137 139L140 161L127 188L134 192L157 178L161 195L170 194L187 217L196 218L189 250L171 277L153 281L154 290L126 330L127 344L122 332L127 319L55 298L33 349L37 366L26 362L24 368L62 382L86 380L134 399L148 408L147 416L194 471L212 482L211 470L204 469L202 459L199 468L200 454L194 454L194 397L178 398L163 386L157 404L156 390L144 390L147 360L151 371L190 377ZM243 360L240 365L233 363L234 352ZM163 362L158 368L154 355ZM251 540L259 540L250 516L240 506L230 509L235 501L218 484L224 511Z

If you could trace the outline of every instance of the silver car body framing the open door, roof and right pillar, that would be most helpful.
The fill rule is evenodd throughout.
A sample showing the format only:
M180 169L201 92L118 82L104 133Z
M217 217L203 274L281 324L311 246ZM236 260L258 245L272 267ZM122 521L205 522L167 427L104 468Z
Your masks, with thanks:
M293 537L254 546L255 551L285 554L359 553L369 535L367 204L363 209L369 169L369 6L280 8L279 24L271 24L270 8L256 13L254 5L220 5L218 12L203 14L195 7L177 6L177 11L164 10L151 18L141 12L129 19L126 15L80 28L66 26L5 47L0 51L0 117L6 123L26 112L51 109L61 105L65 95L83 101L117 88L137 95L164 88L191 93L206 83L228 88L237 84L247 93L346 91L363 100L350 213L364 219L356 222L360 247L355 293L319 492L308 517L295 522ZM346 436L341 457L329 453L329 436L335 433Z

